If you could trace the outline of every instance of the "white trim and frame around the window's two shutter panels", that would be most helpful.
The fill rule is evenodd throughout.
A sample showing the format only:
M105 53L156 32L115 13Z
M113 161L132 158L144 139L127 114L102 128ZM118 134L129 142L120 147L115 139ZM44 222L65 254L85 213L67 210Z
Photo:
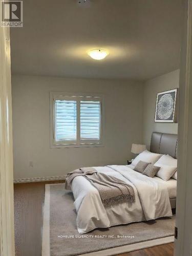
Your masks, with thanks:
M55 140L55 100L57 99L77 99L77 139L76 141L56 141ZM84 140L80 139L80 101L88 101L89 98L98 100L100 105L100 140ZM95 93L72 93L72 92L50 92L50 148L65 148L65 147L99 147L103 146L103 127L104 127L104 100L102 94ZM84 141L84 142L83 142Z

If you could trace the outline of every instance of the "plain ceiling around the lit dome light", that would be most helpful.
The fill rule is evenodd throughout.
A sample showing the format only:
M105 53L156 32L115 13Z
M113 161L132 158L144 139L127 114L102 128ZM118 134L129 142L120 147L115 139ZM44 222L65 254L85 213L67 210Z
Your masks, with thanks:
M80 1L80 0L79 0ZM24 0L12 73L147 80L179 68L182 0ZM87 51L110 51L94 60Z

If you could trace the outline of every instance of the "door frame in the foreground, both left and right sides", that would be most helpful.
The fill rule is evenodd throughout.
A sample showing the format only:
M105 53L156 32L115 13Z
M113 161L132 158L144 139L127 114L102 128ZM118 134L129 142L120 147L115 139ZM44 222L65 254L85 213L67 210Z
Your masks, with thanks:
M185 6L181 48L176 256L191 256L192 242L192 0ZM0 28L0 254L14 255L13 148L9 28Z

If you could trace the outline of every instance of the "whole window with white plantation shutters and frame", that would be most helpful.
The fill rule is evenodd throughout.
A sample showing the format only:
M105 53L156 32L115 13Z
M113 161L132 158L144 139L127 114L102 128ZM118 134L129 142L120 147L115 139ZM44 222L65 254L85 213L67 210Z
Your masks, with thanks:
M51 144L100 146L102 97L51 93Z

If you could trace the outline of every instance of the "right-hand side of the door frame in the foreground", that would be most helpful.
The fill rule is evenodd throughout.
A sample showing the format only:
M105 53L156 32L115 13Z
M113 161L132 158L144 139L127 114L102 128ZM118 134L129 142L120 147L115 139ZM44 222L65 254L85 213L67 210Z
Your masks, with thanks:
M184 26L181 45L178 181L175 255L191 256L192 245L192 0L184 0Z

